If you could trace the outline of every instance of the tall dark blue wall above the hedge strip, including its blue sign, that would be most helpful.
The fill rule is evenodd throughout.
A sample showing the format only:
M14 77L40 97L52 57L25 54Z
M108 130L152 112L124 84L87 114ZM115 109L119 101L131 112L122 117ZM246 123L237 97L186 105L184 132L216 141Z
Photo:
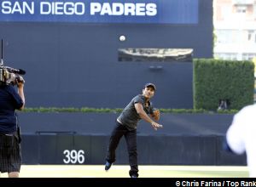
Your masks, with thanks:
M4 65L26 70L27 107L124 107L141 93L145 82L154 82L157 107L193 108L191 61L119 61L118 50L191 48L193 58L212 58L211 0L140 1L157 3L159 17L127 18L100 13L89 17L86 9L82 17L45 14L46 9L39 14L36 3L47 0L32 1L32 14L15 7L22 1L4 2L0 7ZM124 42L119 41L121 35Z

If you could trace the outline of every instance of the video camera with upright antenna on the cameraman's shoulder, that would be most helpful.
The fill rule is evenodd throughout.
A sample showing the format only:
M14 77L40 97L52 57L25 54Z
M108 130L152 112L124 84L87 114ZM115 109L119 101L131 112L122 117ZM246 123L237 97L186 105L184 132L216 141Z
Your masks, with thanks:
M0 62L0 85L1 84L13 84L17 82L25 82L20 75L25 75L26 71L21 69L15 69L9 66L3 66L3 39L2 39L2 58Z

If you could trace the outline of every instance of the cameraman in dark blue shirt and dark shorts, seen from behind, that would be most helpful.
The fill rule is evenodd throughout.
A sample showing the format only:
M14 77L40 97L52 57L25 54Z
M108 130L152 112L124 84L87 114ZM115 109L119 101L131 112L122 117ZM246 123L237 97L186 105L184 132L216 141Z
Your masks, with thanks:
M23 88L24 79L20 76L10 84L0 82L0 173L8 173L9 178L20 174L20 132L15 110L24 108Z

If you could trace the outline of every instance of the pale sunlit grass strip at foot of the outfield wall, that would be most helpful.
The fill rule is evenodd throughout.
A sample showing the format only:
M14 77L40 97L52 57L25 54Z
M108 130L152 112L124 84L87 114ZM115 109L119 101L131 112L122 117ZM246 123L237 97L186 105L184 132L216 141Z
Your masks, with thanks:
M22 165L20 178L129 178L129 166L113 165ZM218 166L143 166L140 178L247 178L247 167ZM1 177L7 177L2 173Z

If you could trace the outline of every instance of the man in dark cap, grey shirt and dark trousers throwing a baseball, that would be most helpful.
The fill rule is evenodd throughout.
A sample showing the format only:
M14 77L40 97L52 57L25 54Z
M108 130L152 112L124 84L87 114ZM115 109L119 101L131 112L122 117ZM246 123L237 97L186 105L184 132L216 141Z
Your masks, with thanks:
M138 177L137 166L137 123L143 119L149 122L154 130L157 130L162 125L154 122L160 119L160 111L153 108L150 99L154 96L156 88L153 83L147 83L143 88L143 94L138 94L131 99L131 102L125 107L124 111L117 118L116 126L113 128L108 145L108 154L106 156L105 170L112 166L115 161L115 150L122 136L125 136L129 154L129 164L131 170L129 172L131 178Z

